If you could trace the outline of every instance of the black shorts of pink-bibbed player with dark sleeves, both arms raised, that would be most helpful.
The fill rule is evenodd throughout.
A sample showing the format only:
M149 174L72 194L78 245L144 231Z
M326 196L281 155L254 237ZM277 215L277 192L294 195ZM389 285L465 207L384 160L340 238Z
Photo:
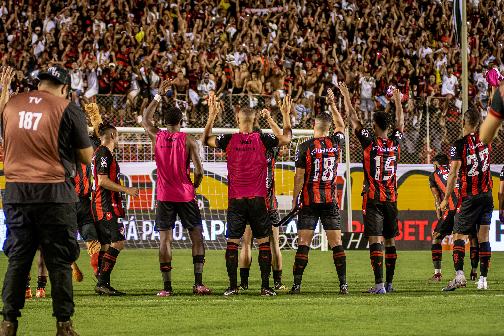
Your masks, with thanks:
M229 239L243 237L247 221L256 239L271 236L273 229L269 210L268 197L230 198L227 207L226 237Z

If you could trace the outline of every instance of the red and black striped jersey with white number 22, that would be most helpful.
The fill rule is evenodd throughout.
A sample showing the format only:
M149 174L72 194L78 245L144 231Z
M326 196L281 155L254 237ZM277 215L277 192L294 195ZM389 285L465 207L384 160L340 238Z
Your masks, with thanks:
M452 161L462 162L459 179L463 197L492 190L491 151L492 144L485 145L479 141L479 133L470 133L453 143L450 152Z

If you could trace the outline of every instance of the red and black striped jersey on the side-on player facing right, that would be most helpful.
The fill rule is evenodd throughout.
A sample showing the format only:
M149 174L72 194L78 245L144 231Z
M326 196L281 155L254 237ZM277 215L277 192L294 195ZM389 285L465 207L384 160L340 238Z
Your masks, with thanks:
M98 222L106 213L124 217L120 191L105 189L96 182L98 180L98 175L104 174L107 175L112 182L117 184L121 183L119 178L119 165L107 147L100 146L95 151L93 159L91 160L91 174L93 174L91 185L91 211L94 221Z

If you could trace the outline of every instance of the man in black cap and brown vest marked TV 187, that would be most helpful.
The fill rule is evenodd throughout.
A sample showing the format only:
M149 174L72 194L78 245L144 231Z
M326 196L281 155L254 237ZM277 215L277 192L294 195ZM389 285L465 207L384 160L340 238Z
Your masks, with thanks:
M2 73L1 106L7 101L10 76ZM15 335L25 302L25 283L40 245L51 281L56 335L76 336L72 267L79 257L77 202L70 179L74 157L91 162L86 120L81 109L65 99L69 73L51 66L38 75L38 90L12 97L2 113L4 172L2 199L8 229L4 251L9 266L4 278L2 335Z

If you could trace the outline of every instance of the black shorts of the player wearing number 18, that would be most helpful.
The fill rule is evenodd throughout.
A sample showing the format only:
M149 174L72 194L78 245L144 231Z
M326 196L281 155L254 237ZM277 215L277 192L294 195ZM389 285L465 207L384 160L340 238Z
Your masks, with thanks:
M313 203L303 205L297 219L298 230L315 230L319 219L324 230L341 230L338 203Z

